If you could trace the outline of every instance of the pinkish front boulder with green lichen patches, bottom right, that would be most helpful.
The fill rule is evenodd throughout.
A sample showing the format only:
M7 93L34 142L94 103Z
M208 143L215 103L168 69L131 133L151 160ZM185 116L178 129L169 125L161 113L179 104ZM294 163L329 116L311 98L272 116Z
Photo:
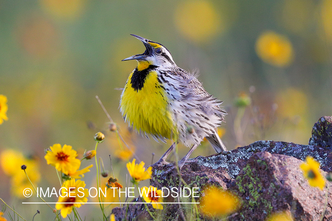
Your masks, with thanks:
M324 220L331 220L332 185L328 183L323 191L311 187L299 168L301 163L294 157L268 152L251 156L229 187L242 198L232 220L265 220L278 211L290 211L295 220L318 221L322 213ZM327 200L329 206L325 207Z

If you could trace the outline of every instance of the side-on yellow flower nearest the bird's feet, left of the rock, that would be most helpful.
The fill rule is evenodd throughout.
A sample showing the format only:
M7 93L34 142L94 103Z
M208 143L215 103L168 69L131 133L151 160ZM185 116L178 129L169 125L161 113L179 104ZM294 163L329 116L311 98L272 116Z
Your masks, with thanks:
M132 162L127 163L127 169L132 177L134 182L139 182L142 180L151 179L152 167L149 167L145 170L144 162L141 161L139 164L135 164L136 159L133 159Z

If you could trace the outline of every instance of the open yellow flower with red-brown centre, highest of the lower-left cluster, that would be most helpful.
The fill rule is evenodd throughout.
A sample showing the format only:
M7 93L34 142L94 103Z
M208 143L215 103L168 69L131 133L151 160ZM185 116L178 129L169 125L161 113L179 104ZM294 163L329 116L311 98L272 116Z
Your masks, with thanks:
M58 171L64 174L73 174L80 168L81 161L76 159L77 152L69 145L54 144L50 147L51 151L47 151L45 159L47 164L51 164Z

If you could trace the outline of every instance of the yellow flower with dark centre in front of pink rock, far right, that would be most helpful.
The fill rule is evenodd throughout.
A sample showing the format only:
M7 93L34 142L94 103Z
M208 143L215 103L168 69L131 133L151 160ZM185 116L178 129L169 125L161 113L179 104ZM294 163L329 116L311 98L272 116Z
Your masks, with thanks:
M308 179L309 185L323 190L325 187L325 178L322 176L319 163L311 156L307 156L306 162L300 165L303 175Z

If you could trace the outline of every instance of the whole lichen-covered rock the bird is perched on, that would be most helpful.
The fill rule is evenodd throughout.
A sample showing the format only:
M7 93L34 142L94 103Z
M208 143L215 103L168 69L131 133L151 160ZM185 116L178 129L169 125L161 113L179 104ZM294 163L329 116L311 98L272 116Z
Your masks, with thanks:
M188 186L197 185L199 190L205 185L216 185L238 194L243 204L230 220L264 220L271 212L289 210L295 220L318 221L324 211L325 192L308 186L298 166L310 155L323 171L332 171L331 148L332 117L322 117L313 127L309 145L260 140L227 152L191 159L182 168L181 176ZM179 176L167 170L167 167L154 167L150 185L158 189L183 187ZM332 220L330 184L328 188L329 203L324 220ZM171 197L170 200L177 199ZM121 216L126 216L127 220L138 216L152 220L142 204L130 204L128 208L129 213L122 210L122 215L116 215L117 221ZM116 209L117 214L121 214L119 209ZM185 212L184 206L164 205L162 220L183 220L181 216L186 216Z

